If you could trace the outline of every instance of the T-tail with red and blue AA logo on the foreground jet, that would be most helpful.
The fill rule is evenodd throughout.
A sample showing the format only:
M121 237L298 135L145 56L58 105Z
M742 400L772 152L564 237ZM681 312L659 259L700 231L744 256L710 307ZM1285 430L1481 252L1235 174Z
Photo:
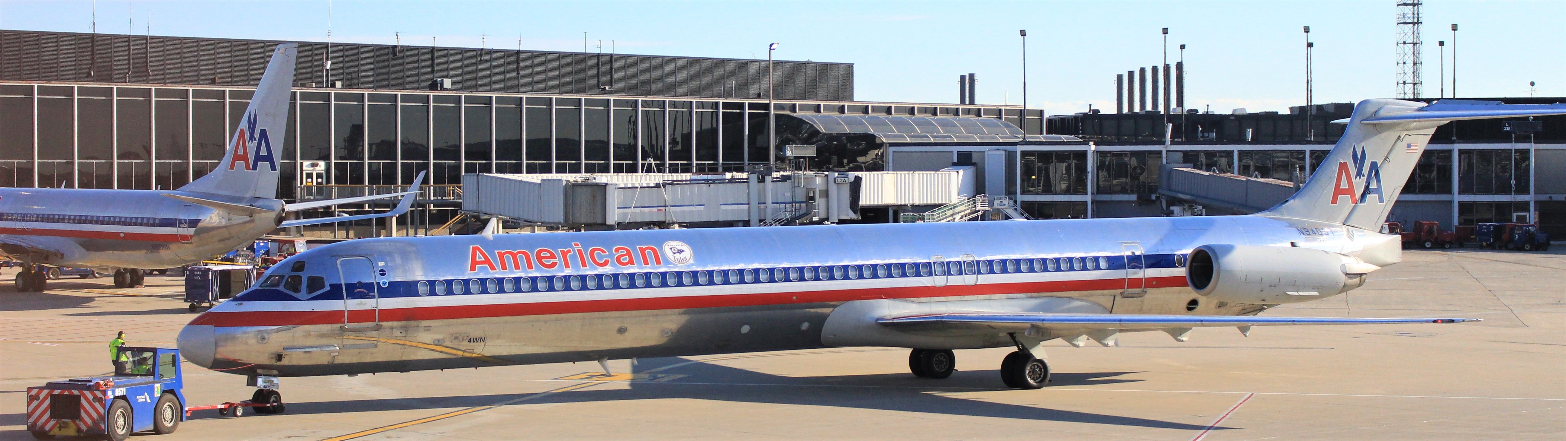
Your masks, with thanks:
M1500 102L1362 100L1337 139L1337 147L1294 197L1261 216L1337 222L1380 230L1403 192L1436 127L1464 119L1566 114L1566 105L1503 105Z

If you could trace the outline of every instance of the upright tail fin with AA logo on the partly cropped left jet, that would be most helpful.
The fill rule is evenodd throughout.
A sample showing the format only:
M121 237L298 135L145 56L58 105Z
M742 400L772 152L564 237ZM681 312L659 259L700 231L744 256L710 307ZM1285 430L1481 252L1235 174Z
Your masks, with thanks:
M180 188L233 197L277 199L279 160L288 130L288 92L293 86L298 44L280 44L262 74L251 106L229 139L229 152L210 174Z

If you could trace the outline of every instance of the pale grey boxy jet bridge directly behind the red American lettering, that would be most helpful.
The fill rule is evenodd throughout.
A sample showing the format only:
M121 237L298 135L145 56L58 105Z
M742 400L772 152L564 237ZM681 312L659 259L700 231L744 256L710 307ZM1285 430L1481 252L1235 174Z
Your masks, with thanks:
M468 174L462 211L531 225L625 230L661 225L802 225L858 219L846 172Z

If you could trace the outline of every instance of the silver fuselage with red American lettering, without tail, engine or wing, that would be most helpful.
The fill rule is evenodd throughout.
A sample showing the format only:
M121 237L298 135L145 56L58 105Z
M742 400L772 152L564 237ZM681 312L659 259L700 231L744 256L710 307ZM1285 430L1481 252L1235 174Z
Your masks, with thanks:
M1361 255L1387 241L1264 216L359 239L274 266L180 347L232 374L332 375L822 347L835 308L875 299L1253 314L1265 307L1192 292L1193 247ZM965 347L990 346L1010 342Z

